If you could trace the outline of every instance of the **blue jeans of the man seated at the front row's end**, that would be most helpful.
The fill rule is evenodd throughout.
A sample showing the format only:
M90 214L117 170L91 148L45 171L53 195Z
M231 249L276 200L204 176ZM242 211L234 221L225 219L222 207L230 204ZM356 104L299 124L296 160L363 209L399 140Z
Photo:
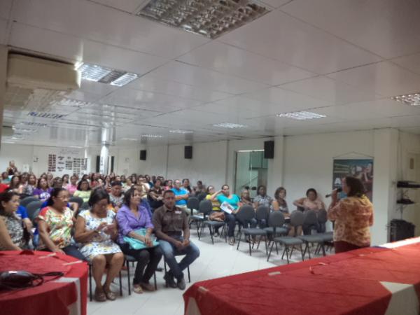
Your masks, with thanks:
M183 237L181 236L172 236L172 238L183 241ZM162 249L167 264L169 265L169 272L178 280L183 279L183 269L186 269L186 267L191 265L193 261L200 256L200 249L198 249L192 241L190 241L188 246L181 249L181 251L176 248L174 244L169 243L169 241L164 241L163 239L159 239L159 246ZM181 262L178 263L175 256L179 255L185 256L182 258Z

